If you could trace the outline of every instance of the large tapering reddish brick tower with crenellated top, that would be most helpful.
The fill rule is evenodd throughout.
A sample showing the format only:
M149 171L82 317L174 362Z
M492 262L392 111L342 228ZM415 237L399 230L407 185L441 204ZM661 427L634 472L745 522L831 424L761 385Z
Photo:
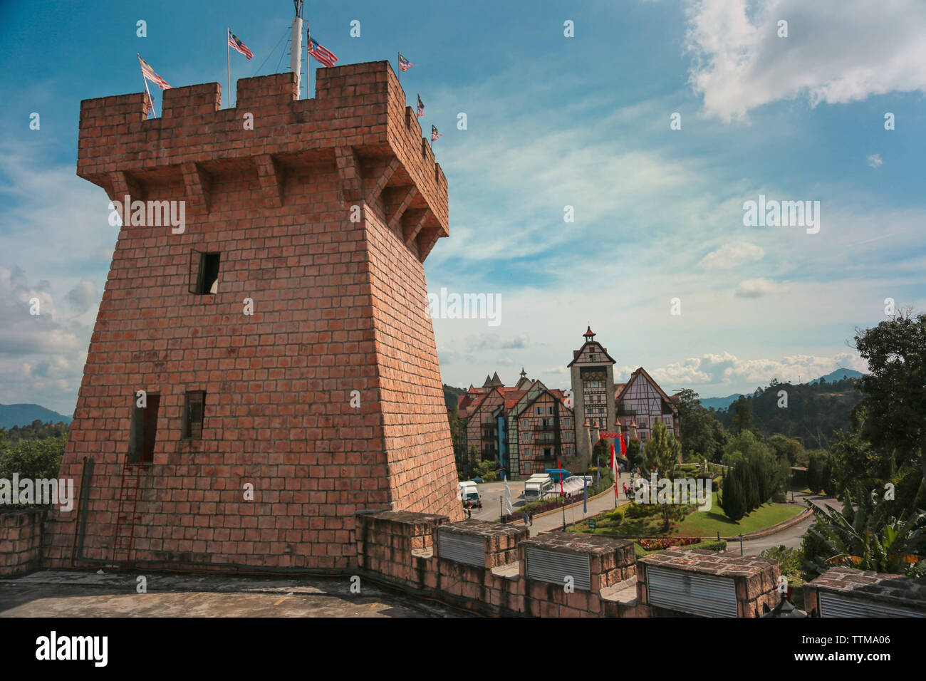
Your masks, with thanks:
M82 102L78 175L186 221L123 221L46 566L347 568L356 511L461 519L422 265L446 179L387 62L317 75L227 109L167 90L152 120Z

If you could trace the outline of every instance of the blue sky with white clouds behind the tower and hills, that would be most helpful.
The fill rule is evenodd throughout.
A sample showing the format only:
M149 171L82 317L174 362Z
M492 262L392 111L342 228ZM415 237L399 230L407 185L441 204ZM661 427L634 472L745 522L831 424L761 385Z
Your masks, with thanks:
M307 3L340 63L411 59L408 101L444 132L451 235L429 288L502 300L498 326L434 321L444 382L523 366L564 387L587 324L619 376L644 366L667 391L864 370L849 342L885 298L926 309L926 6L871 5ZM76 401L117 230L75 175L81 99L141 90L136 52L172 85L224 90L225 27L255 54L232 53L234 81L291 19L283 0L0 4L0 402ZM285 46L260 74L288 68ZM760 194L820 201L820 232L744 226Z

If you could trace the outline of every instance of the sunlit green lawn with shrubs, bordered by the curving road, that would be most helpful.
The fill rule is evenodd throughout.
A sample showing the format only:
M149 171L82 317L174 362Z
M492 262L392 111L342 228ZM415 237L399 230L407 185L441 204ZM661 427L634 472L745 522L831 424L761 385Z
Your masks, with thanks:
M602 514L596 516L596 519L600 520L598 520L598 527L594 530L594 534L605 536L717 536L720 532L720 536L746 535L782 523L803 510L804 507L796 505L764 504L742 518L739 523L732 523L720 509L717 503L717 492L714 492L710 511L694 511L688 514L681 522L672 523L668 533L662 531L661 515L637 520L628 518L623 523L615 525L603 520L606 514ZM589 532L588 524L576 525L575 531Z

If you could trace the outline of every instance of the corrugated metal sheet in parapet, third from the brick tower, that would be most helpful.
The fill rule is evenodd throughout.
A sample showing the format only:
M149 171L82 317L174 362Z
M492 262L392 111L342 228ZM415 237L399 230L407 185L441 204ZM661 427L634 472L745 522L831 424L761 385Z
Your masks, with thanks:
M647 602L706 617L736 617L736 585L731 577L646 567Z

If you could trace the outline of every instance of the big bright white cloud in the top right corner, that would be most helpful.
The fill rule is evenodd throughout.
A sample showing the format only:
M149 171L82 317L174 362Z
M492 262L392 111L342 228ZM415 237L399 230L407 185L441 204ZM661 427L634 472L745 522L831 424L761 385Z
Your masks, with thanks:
M920 0L698 0L687 14L689 82L722 120L802 95L816 106L926 90Z

